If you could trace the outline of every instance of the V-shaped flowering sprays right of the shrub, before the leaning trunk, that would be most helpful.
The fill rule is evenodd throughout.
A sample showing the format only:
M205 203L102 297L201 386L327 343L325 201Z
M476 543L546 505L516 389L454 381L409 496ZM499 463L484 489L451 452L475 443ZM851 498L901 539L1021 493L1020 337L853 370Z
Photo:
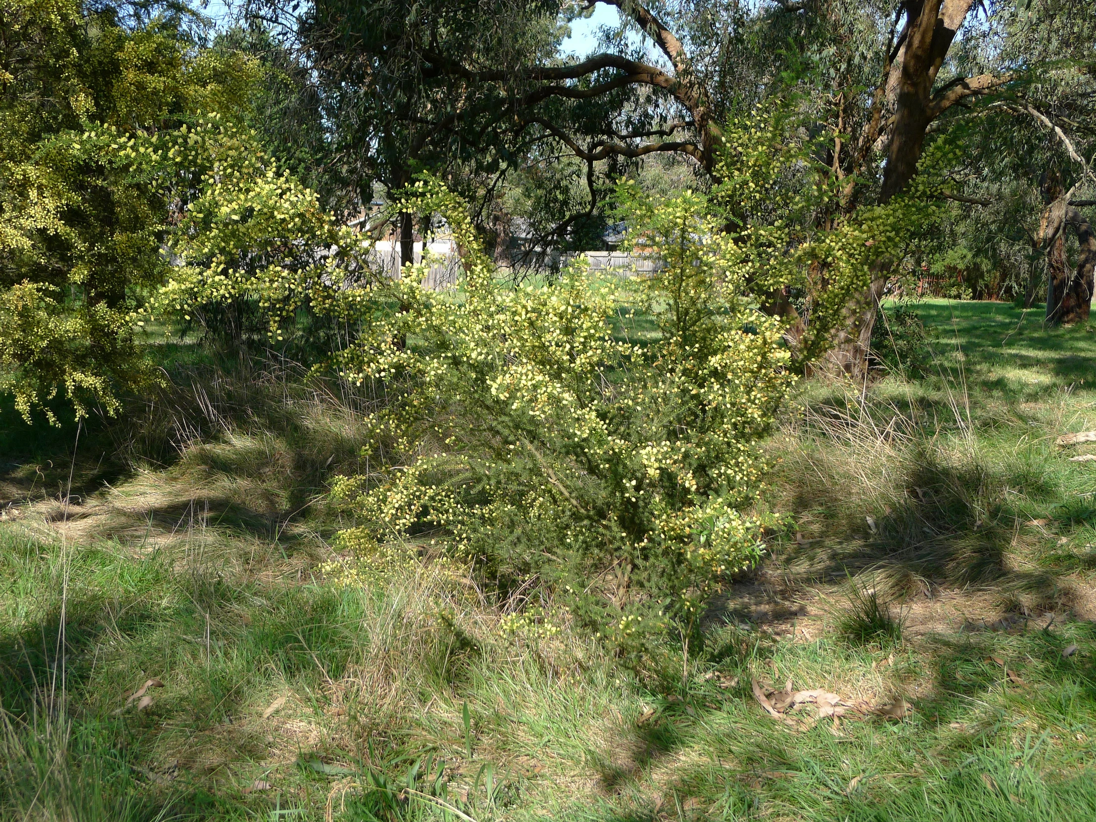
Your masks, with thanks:
M818 161L823 144L802 136L796 103L773 99L724 128L717 162L723 182L711 203L743 249L756 297L770 301L781 290L794 297L804 324L794 353L803 366L830 346L869 283L937 224L938 196L961 149L934 141L899 196L850 210L852 190Z

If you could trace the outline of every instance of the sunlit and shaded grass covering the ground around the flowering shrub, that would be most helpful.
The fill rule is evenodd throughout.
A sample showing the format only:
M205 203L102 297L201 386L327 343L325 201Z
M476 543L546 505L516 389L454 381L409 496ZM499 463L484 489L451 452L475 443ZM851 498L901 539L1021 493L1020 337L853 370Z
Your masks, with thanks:
M1053 443L1096 429L1096 334L916 310L928 376L800 388L766 503L796 524L687 661L669 642L616 659L559 614L548 639L500 631L459 569L326 582L338 522L308 503L356 469L355 432L302 395L118 475L68 523L12 510L0 817L1096 818L1096 469L1068 459L1096 449ZM67 441L42 442L33 459L67 468ZM864 712L779 722L754 678ZM899 698L909 717L876 712Z

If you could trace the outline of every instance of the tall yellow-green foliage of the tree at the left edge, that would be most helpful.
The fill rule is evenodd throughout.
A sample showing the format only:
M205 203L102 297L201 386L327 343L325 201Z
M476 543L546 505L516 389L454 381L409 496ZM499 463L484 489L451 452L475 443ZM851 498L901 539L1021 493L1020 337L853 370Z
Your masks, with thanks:
M3 8L0 388L25 419L58 392L77 416L114 414L155 378L132 318L168 271L164 236L190 195L170 149L197 111L239 109L252 76L195 48L178 20L118 14Z

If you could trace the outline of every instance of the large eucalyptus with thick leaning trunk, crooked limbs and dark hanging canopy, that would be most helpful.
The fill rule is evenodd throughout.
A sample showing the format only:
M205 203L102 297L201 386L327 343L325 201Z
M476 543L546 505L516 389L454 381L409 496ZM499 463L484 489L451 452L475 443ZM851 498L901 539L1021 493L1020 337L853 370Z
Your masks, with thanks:
M843 196L812 217L820 227L887 204L952 121L1042 94L1057 58L1032 44L1062 25L1052 3L1080 2L1032 0L1046 12L1031 12L973 0L315 0L290 14L254 0L264 1L312 72L333 150L361 163L363 181L396 189L432 168L482 210L507 174L569 157L525 174L557 191L555 172L568 180L568 196L526 198L552 206L544 231L557 239L594 216L606 176L644 158L681 158L701 184L719 184L723 124L772 95L796 96L812 138L829 138L819 159ZM619 27L594 54L562 55L566 24L597 2L615 7ZM1083 12L1070 8L1071 42L1083 43ZM589 195L568 214L579 169ZM963 197L961 184L951 196ZM897 262L879 261L847 307L831 357L850 374L864 370ZM810 322L795 294L764 301L792 335Z

